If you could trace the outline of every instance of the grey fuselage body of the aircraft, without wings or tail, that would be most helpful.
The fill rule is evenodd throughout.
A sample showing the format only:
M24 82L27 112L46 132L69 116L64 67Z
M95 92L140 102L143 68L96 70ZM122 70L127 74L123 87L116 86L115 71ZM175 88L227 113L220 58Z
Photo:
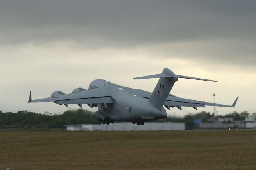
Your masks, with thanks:
M146 122L162 119L167 116L164 107L158 108L136 94L136 89L112 84L109 81L96 79L89 85L89 89L110 86L110 91L115 93L114 103L98 104L98 111L108 116L111 121ZM135 92L135 93L133 93Z

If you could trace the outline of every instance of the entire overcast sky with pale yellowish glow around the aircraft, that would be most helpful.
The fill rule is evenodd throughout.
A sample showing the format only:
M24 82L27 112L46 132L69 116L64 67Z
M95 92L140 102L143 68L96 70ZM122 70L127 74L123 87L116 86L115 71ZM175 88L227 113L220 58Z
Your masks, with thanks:
M29 91L50 97L98 78L152 91L157 79L132 78L168 67L219 81L179 79L172 94L212 102L216 93L229 105L240 96L218 113L256 112L255 9L254 0L1 0L0 110L62 113L55 103L27 103Z

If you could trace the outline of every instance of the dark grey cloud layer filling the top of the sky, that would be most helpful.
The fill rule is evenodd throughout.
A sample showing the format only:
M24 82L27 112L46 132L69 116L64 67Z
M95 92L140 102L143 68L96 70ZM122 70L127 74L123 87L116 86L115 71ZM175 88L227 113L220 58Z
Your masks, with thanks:
M245 57L255 64L255 8L254 0L2 0L0 43L73 40L91 47L134 47L234 40L226 48L208 43L207 51L196 53L232 61Z

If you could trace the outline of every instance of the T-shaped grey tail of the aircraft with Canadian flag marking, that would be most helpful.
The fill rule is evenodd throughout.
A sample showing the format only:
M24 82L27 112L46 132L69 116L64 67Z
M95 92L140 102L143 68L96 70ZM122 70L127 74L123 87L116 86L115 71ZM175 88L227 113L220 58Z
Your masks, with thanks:
M200 78L196 78L196 77L188 77L188 76L183 76L183 75L176 75L168 68L164 68L164 70L161 74L136 77L134 79L151 79L151 78L160 78L160 79L159 79L158 83L156 84L156 87L148 101L159 108L163 107L170 91L172 90L172 87L174 86L174 83L176 81L178 81L178 78L217 82L214 80L200 79Z

